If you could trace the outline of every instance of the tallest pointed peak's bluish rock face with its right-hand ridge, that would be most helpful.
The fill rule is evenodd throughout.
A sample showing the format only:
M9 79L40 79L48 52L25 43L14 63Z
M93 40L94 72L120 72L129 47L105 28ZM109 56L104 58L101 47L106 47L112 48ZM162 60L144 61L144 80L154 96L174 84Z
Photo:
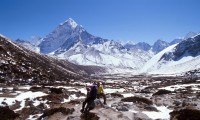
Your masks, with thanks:
M45 54L58 49L59 51L61 49L65 49L66 51L69 50L70 47L73 47L77 41L82 41L84 45L91 45L102 44L107 40L89 34L81 25L78 25L73 19L69 18L43 38L40 44L40 50Z

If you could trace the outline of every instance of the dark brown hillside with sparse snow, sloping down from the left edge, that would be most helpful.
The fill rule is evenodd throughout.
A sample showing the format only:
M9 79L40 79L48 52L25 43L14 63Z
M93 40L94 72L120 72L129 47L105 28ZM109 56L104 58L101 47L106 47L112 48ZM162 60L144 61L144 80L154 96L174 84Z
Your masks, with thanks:
M55 81L84 79L103 71L100 67L87 67L37 54L0 36L1 83L50 84Z

